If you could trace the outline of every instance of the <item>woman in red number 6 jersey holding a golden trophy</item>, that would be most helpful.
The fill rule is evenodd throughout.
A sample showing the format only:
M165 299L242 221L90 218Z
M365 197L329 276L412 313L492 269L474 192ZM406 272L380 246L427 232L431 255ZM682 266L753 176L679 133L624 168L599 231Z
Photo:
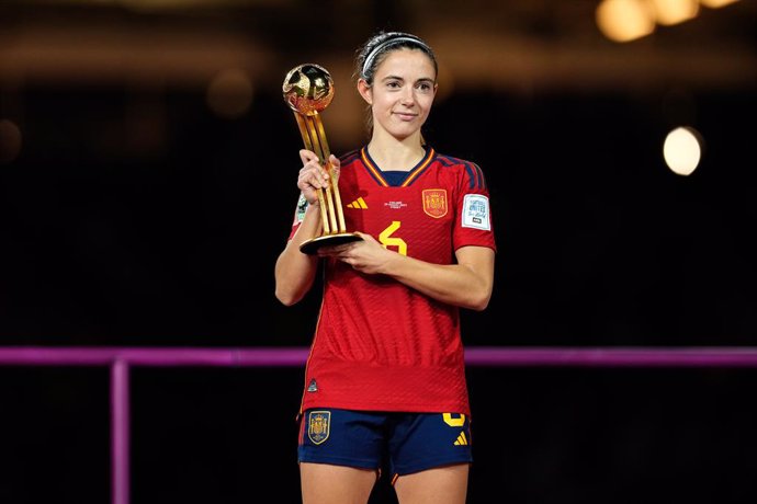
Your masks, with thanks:
M425 146L437 72L431 48L408 33L378 33L358 51L370 141L330 162L347 229L362 240L301 252L321 232L317 191L332 181L300 151L275 295L296 303L323 265L298 415L304 504L365 504L384 468L400 504L465 502L473 459L460 309L487 307L496 245L481 169Z

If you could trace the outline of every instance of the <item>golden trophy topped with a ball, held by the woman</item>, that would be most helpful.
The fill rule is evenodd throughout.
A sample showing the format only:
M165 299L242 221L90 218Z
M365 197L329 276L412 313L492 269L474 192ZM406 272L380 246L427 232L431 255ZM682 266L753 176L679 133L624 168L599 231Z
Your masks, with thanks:
M334 99L334 80L321 66L303 64L286 73L282 85L284 101L294 111L305 148L318 156L320 164L329 175L329 186L318 190L323 232L300 245L306 254L315 254L321 245L336 245L362 240L358 234L347 232L344 213L339 197L339 180L329 161L330 151L326 131L320 121L324 111Z

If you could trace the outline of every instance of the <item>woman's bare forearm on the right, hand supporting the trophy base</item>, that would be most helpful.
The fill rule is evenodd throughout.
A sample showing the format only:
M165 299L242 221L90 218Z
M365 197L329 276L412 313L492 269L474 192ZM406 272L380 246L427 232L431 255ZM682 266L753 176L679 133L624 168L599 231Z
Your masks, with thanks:
M457 264L433 264L384 249L373 237L359 233L362 241L325 247L319 255L332 255L366 274L384 274L442 302L484 310L494 287L494 250L463 247Z

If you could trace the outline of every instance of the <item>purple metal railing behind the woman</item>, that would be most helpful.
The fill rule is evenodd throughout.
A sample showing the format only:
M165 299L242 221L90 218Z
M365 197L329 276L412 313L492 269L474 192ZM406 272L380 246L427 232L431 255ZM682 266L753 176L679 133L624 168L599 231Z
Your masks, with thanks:
M110 366L111 499L129 502L129 366L303 366L307 348L0 347L0 366ZM468 347L470 366L757 367L757 347Z

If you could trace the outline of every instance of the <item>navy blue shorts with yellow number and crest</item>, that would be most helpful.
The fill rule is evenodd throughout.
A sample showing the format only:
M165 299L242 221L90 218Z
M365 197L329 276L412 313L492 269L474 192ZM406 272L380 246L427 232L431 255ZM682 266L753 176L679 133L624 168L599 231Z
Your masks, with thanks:
M301 462L403 476L473 461L471 420L457 413L307 410L300 420Z

